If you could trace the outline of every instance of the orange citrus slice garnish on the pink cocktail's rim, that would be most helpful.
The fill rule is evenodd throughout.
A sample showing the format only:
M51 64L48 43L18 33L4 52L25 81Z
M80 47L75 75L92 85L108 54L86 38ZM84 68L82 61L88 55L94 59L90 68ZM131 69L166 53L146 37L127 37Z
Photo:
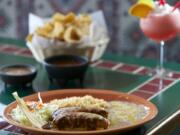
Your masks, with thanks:
M129 9L129 14L144 18L146 17L149 12L151 12L154 9L154 1L153 0L138 0L136 4L134 4Z

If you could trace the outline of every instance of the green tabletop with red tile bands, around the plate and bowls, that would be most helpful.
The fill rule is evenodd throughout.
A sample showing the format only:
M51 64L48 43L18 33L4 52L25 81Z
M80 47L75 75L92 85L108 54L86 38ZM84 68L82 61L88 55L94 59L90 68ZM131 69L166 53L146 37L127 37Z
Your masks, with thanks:
M15 49L13 50L12 48ZM20 87L10 86L5 88L4 83L0 81L0 106L14 101L11 95L13 91L18 91L20 96L26 96L37 91L62 89L60 86L49 82L47 73L41 64L36 62L29 54L22 53L24 48L26 48L24 41L0 38L0 65L23 63L32 64L38 69L38 74L33 81L32 87L22 89ZM114 66L117 65L119 67L115 68ZM128 65L134 69L127 67ZM155 60L104 54L101 60L89 67L84 80L84 87L126 92L150 100L157 106L159 113L155 119L136 130L136 133L134 132L133 134L158 134L161 128L156 131L156 127L162 123L164 123L162 124L162 127L164 127L175 117L178 119L172 125L180 125L180 64L165 63L166 68L173 70L176 75L172 78L167 78L166 81L170 81L170 83L164 84L161 90L156 90L156 88L158 89L157 83L151 83L152 80L157 79L156 77L140 73L142 69L146 69L147 67L153 68L155 65ZM148 87L141 88L144 85L148 85ZM79 85L71 81L65 88L79 88ZM174 117L171 118L171 116ZM170 121L166 122L168 119ZM167 132L171 129L167 130Z

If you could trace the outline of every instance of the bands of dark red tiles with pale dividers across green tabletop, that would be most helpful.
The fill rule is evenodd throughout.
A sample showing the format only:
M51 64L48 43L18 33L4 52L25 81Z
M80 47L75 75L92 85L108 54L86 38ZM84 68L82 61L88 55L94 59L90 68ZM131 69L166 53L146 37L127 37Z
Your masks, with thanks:
M19 55L24 57L32 57L32 53L27 48L20 48L12 45L1 45L1 53L7 53L11 55ZM91 64L92 67L103 68L107 70L112 70L115 72L125 72L129 74L137 75L147 75L147 72L150 70L148 67L139 66L139 65L130 65L126 63L118 63L113 61L98 60ZM175 83L180 78L180 73L173 72L172 77L167 77L164 80L161 80L158 77L151 77L148 81L144 82L142 85L134 88L129 93L141 96L145 99L151 99L157 93L166 90L173 83ZM163 84L162 87L159 87L160 81Z

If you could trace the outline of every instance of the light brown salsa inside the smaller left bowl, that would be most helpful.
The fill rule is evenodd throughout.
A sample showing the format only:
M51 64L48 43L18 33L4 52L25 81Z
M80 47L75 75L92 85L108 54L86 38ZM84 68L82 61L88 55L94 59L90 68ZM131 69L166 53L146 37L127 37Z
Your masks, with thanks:
M26 75L32 71L27 67L8 67L3 69L3 72L7 75Z

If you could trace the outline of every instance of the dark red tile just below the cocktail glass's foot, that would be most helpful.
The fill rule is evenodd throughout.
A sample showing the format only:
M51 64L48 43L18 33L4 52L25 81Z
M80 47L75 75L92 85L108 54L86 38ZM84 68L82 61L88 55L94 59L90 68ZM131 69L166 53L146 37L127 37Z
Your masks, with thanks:
M142 87L140 87L139 90L156 93L160 91L162 88L163 86L160 88L159 85L145 84Z

